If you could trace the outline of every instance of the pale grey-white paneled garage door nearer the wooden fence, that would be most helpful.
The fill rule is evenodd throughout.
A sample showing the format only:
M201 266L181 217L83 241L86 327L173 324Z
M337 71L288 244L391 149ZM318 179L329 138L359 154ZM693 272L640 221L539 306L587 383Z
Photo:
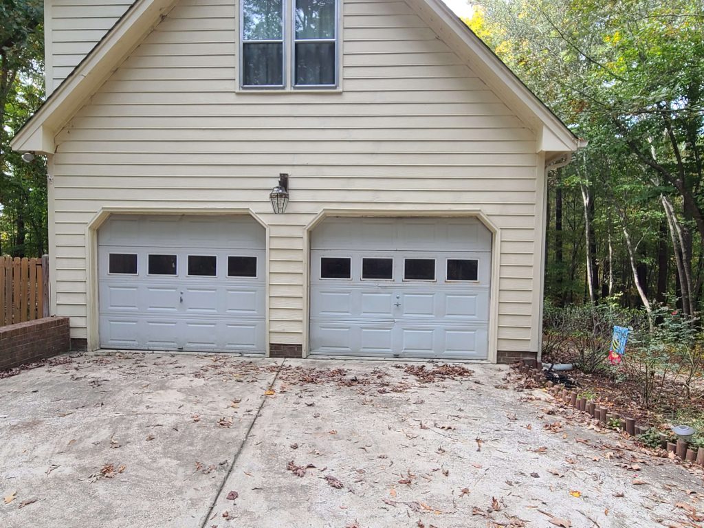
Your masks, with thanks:
M252 218L113 215L98 245L103 348L264 353L265 231Z

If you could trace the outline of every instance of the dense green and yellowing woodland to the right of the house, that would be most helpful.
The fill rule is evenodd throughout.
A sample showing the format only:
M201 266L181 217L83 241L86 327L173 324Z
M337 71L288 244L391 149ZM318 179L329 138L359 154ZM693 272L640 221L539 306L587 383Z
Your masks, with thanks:
M562 169L560 225L557 217L554 225L584 270L583 298L596 299L604 262L602 280L610 291L625 292L625 304L649 309L650 291L660 298L677 294L693 316L704 282L700 1L485 0L467 23L589 139ZM551 182L550 203L555 189ZM581 211L570 208L575 201ZM565 296L556 279L562 275L552 271L567 248L548 252L551 298Z

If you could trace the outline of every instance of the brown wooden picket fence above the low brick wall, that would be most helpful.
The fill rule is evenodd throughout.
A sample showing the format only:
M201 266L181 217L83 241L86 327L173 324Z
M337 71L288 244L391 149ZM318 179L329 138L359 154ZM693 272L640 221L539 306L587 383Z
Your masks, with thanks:
M49 257L0 257L0 327L49 316Z

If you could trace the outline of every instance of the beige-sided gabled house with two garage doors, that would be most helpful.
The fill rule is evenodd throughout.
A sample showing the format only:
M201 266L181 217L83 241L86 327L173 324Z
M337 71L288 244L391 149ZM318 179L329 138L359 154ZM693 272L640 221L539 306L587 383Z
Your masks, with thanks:
M546 173L580 140L440 0L45 6L13 149L49 164L75 348L539 352Z

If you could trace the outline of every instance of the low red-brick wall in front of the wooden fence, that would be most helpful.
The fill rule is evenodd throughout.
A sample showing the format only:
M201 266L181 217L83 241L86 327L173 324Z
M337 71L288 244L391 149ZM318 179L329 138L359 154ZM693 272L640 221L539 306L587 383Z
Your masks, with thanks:
M68 352L68 318L44 318L0 327L0 370Z

